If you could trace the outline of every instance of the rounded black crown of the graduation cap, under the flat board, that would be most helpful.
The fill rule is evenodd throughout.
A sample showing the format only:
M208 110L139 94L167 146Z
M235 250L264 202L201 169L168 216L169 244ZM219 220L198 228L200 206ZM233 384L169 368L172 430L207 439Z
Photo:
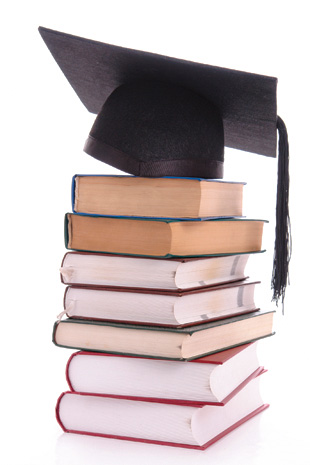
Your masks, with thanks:
M221 178L222 117L215 105L189 89L134 81L108 97L84 150L138 176Z

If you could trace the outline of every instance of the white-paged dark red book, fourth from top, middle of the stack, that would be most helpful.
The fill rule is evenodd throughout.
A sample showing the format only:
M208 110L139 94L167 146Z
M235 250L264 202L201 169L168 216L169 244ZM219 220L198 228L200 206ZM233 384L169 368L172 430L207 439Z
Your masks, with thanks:
M179 292L67 286L59 317L182 327L257 310L257 284L245 280Z

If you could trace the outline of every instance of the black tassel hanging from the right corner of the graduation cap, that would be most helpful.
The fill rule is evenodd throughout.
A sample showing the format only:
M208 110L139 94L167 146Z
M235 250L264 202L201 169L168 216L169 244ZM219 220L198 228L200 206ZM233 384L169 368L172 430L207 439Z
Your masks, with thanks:
M286 286L289 283L289 262L292 252L291 223L289 216L289 144L286 126L278 116L278 186L276 205L276 230L273 257L273 273L271 288L272 300L278 305L282 299L284 313L284 298Z

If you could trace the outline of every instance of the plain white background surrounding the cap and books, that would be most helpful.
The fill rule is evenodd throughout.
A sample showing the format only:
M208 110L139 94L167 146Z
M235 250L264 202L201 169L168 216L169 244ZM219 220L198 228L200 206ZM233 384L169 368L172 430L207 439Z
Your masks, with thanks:
M205 452L62 433L54 416L71 354L55 347L62 310L63 216L75 173L116 173L82 148L88 114L39 25L192 61L276 76L290 140L291 285L261 341L271 407ZM309 463L309 32L305 1L19 1L1 13L1 454L6 464ZM226 150L225 179L246 181L245 213L270 221L252 262L270 304L276 161Z

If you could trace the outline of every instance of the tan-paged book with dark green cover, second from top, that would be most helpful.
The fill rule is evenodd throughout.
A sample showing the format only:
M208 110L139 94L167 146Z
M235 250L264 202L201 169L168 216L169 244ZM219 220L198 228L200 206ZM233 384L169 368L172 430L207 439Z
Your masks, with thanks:
M225 255L261 250L264 221L142 220L67 213L66 247L157 257Z

